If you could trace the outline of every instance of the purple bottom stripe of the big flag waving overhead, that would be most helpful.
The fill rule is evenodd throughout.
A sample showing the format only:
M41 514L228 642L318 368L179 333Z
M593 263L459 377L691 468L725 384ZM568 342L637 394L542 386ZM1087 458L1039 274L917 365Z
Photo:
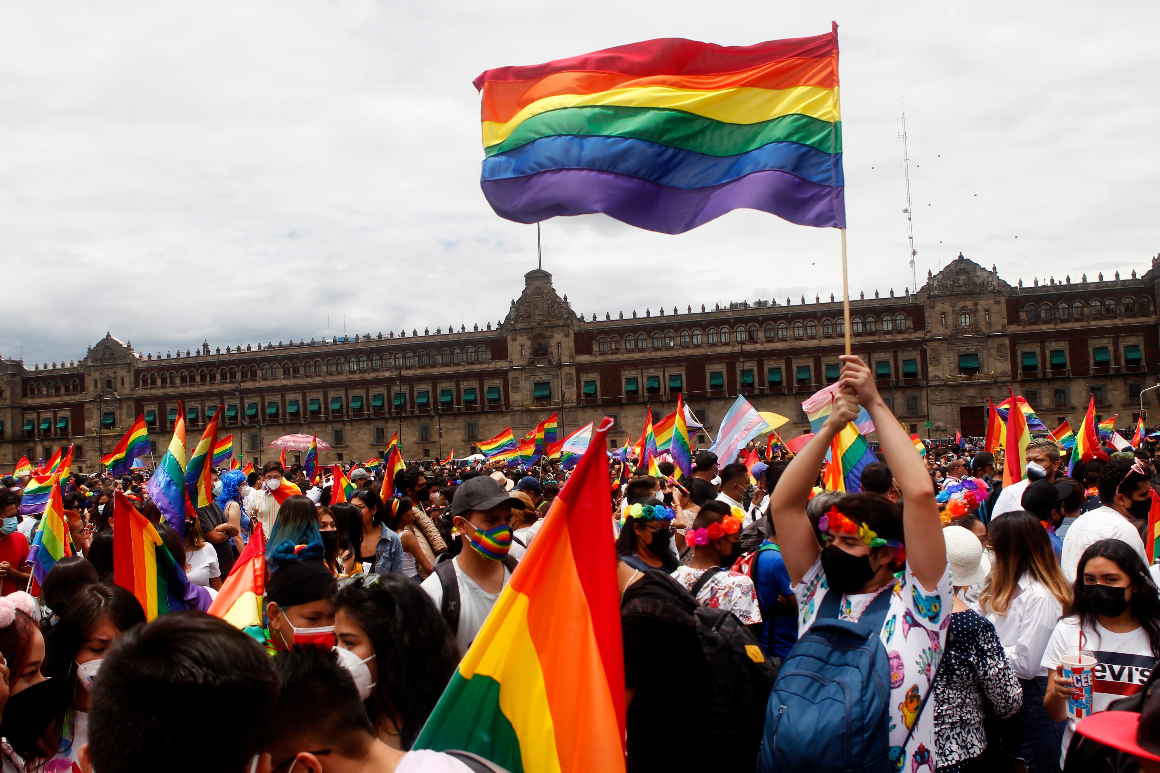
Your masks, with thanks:
M778 169L708 188L670 188L593 169L553 169L529 177L485 180L496 214L516 223L603 212L638 228L684 233L732 210L776 214L803 226L844 228L844 188L807 182Z

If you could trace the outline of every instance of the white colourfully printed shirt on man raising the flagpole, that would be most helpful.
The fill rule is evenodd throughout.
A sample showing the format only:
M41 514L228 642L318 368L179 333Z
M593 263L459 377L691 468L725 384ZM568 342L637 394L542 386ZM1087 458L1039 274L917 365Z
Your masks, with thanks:
M829 589L826 573L819 557L805 573L802 582L793 586L798 601L798 635L802 635L817 618L821 600ZM950 626L951 584L950 567L943 571L934 593L928 593L909 567L902 581L893 589L887 585L882 593L890 593L890 608L882 627L882 643L890 658L890 745L901 746L906 734L914 725L915 714L926 694L934 688L935 670L947 646L947 628ZM857 621L878 593L847 593L839 605L839 618ZM921 765L930 770L938 767L935 751L934 701L928 700L918 717L919 725L904 750L901 770L912 770L915 756ZM919 766L914 766L915 770Z

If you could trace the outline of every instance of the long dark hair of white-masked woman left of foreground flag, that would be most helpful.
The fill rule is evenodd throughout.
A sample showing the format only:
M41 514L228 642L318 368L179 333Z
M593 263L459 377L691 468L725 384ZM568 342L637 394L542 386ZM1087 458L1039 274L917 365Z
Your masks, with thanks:
M355 578L340 588L334 611L345 611L367 632L378 664L367 714L376 727L397 717L406 751L459 665L459 648L418 583L403 575L376 577L367 586Z

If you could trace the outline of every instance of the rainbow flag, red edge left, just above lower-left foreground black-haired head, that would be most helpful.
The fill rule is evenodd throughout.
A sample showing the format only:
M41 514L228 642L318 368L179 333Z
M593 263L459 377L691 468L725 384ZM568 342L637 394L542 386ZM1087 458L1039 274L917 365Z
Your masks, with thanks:
M113 581L132 592L145 620L189 608L189 581L157 528L121 491L113 493Z

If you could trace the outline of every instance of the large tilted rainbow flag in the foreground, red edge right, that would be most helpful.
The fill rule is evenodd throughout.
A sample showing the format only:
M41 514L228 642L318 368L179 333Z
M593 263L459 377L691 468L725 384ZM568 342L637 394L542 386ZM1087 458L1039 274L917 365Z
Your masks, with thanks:
M415 749L509 771L624 771L624 652L606 438L593 432Z

